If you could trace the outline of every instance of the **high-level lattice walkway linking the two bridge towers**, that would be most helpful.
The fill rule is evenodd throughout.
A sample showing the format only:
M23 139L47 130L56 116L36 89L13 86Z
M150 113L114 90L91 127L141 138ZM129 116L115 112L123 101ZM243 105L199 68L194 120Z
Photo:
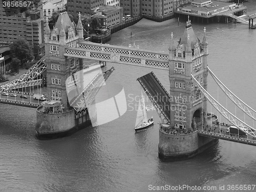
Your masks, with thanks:
M169 69L169 55L160 51L138 50L129 47L96 44L90 41L77 43L76 48L67 47L65 56L123 63L127 65Z

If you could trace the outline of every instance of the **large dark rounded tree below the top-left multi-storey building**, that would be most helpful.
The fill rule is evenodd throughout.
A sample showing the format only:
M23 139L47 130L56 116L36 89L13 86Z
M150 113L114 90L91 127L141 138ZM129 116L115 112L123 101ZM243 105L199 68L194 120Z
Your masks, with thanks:
M10 45L10 52L12 59L19 59L22 66L24 66L25 62L34 59L32 46L30 46L27 40L22 38L13 41L13 43Z

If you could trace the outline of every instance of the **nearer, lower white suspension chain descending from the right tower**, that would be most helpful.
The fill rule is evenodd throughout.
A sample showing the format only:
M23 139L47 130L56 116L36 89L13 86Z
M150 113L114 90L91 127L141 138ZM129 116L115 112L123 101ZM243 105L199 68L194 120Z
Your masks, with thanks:
M231 124L236 126L239 130L242 132L252 136L256 137L256 129L251 127L250 125L246 124L239 118L237 118L235 115L230 113L227 109L224 108L214 97L212 97L202 86L201 84L196 80L196 78L191 74L191 78L194 80L194 82L197 84L198 89L204 94L204 96L208 99L208 101L215 107L215 109L223 115ZM241 129L242 128L242 129ZM246 131L245 131L246 130Z

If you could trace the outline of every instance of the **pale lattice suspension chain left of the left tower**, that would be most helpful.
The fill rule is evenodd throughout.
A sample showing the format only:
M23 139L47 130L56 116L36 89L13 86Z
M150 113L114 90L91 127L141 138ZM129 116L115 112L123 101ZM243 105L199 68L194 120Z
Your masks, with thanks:
M3 84L0 92L8 91L16 88L24 88L41 84L41 79L36 79L38 75L46 70L45 56L38 60L28 71L12 81Z

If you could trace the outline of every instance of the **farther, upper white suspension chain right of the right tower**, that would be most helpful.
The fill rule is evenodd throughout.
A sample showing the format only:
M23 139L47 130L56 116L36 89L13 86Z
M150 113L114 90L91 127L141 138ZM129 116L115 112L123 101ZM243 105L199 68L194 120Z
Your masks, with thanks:
M244 113L246 113L249 117L251 117L253 120L256 120L256 111L253 110L249 105L247 105L245 102L243 102L241 99L239 99L236 95L234 95L216 76L212 71L207 67L208 72L214 78L215 82L218 84L218 86L221 88L221 90L230 98L231 101L233 101L234 104L236 104Z

